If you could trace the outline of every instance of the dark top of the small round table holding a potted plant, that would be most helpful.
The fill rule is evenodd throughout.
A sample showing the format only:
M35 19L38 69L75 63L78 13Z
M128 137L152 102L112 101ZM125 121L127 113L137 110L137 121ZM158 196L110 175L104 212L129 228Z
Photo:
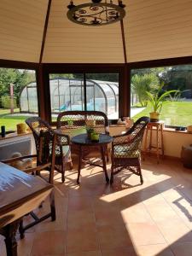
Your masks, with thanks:
M100 134L99 135L99 141L91 141L88 137L87 134L79 134L77 136L74 136L72 138L72 143L74 144L79 144L79 145L86 145L86 146L96 146L100 144L108 144L113 142L113 137L107 135L107 134Z

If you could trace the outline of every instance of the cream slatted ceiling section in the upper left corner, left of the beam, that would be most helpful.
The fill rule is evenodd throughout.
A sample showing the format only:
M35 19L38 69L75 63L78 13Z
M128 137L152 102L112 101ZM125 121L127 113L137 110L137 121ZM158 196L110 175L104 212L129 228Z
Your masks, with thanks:
M1 0L0 59L38 62L48 0Z

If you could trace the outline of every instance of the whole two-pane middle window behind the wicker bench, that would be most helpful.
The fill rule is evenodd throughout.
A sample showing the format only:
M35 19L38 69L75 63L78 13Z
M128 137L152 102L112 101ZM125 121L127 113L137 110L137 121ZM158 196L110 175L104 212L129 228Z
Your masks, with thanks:
M98 110L119 118L119 74L49 74L51 119L67 110ZM85 104L85 106L84 106Z

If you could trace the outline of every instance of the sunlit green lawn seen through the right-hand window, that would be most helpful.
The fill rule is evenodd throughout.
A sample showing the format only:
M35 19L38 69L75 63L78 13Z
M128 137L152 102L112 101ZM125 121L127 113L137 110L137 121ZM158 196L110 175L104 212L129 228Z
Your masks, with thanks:
M149 116L149 112L152 112L150 106L132 118L137 120L143 115ZM192 102L164 102L160 119L165 120L166 125L192 125Z

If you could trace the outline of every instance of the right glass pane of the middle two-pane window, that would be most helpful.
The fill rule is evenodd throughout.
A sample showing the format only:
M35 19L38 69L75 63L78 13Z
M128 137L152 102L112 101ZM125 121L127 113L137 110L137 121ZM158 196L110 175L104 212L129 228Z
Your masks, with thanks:
M119 119L119 74L86 73L87 110L106 113Z

